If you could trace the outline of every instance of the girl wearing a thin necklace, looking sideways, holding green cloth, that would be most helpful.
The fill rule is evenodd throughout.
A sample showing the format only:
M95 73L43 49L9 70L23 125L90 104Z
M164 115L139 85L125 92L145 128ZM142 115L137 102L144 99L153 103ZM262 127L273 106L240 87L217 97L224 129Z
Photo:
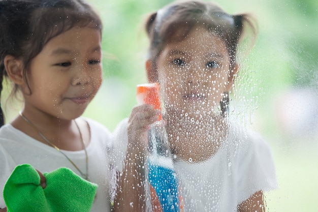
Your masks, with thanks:
M98 185L91 211L110 211L115 144L105 127L80 117L102 83L99 16L81 0L0 1L0 28L1 84L11 82L12 95L19 91L24 100L11 123L0 114L0 191L17 165L40 174L68 167ZM143 111L150 111L149 125L156 113ZM125 197L117 199L124 211ZM3 195L0 208L6 210Z

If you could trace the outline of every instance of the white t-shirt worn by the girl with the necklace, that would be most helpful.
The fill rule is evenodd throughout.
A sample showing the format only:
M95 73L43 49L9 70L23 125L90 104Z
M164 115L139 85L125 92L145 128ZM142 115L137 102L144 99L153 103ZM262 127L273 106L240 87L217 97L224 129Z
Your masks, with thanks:
M88 154L88 176L98 185L96 199L91 210L110 211L110 159L113 151L110 132L101 124L84 118L90 128L90 143L86 147ZM84 173L86 173L85 151L62 150ZM30 164L40 172L51 172L59 167L68 167L79 176L78 170L55 148L39 142L7 124L0 129L0 191L13 169L19 164ZM0 208L5 207L0 196Z

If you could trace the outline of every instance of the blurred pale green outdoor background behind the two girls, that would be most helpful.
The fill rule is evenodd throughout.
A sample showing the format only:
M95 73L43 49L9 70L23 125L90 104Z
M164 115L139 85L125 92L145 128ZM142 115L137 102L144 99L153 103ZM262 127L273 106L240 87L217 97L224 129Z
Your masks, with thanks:
M143 19L172 1L88 1L104 23L104 82L84 116L112 131L137 104L136 85L146 82ZM214 2L258 21L258 38L242 60L231 105L232 116L262 134L272 149L278 189L266 193L268 211L317 211L318 1ZM14 115L7 111L7 120Z

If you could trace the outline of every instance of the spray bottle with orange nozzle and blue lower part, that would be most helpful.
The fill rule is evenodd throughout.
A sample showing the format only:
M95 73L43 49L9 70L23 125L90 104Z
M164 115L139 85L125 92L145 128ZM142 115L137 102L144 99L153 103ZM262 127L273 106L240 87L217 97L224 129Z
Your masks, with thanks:
M149 104L155 109L161 109L159 94L158 83L137 85L139 104ZM165 123L161 116L148 131L148 149L147 167L152 211L183 212L178 179L173 168Z

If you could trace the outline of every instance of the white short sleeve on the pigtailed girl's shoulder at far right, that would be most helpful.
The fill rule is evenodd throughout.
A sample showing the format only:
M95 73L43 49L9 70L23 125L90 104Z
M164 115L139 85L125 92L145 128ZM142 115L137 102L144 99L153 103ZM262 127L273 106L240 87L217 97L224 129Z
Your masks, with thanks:
M277 188L274 161L267 143L259 135L249 134L246 144L239 158L237 185L240 202L257 191Z

